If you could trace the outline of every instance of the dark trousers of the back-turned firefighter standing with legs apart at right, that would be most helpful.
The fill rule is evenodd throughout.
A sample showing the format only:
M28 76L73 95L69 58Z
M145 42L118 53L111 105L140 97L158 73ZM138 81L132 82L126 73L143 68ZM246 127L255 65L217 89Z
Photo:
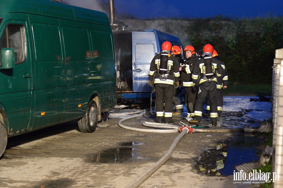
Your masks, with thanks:
M217 123L217 90L215 82L203 82L199 85L194 120L200 121L202 119L203 105L206 97L208 97L210 102L210 120L212 123Z

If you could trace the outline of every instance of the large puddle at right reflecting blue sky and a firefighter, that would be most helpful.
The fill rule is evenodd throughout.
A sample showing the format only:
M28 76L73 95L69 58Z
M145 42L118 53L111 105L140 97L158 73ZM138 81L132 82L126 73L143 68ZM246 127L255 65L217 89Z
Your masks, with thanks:
M193 172L206 176L233 175L236 166L259 160L261 150L256 147L263 140L260 134L239 133L230 140L219 141L193 159Z

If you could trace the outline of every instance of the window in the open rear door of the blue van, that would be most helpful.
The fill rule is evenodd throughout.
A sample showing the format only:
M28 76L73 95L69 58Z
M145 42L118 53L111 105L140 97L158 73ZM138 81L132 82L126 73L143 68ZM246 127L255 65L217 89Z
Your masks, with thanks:
M155 55L153 44L136 44L136 63L150 63Z

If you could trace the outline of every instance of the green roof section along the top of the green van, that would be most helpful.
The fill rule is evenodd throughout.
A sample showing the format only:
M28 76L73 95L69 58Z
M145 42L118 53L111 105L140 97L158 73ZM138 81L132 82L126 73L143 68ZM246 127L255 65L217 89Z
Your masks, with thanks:
M106 13L53 0L0 0L0 5L0 18L6 13L31 13L110 26Z

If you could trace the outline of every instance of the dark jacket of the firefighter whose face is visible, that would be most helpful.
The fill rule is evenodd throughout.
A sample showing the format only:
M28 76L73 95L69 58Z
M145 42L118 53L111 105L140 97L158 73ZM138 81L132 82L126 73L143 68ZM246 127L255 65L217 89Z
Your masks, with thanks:
M193 86L193 81L191 78L191 73L194 67L194 64L197 62L196 56L191 56L182 65L181 70L181 87L190 87Z

